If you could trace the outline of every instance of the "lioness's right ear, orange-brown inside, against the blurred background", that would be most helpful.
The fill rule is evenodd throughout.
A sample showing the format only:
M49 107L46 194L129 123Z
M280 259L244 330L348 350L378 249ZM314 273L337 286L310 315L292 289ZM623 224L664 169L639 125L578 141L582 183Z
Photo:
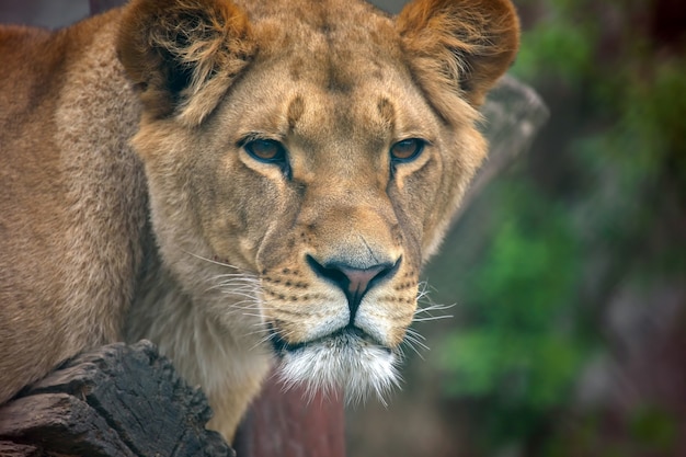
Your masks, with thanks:
M510 0L414 0L396 26L420 83L460 92L479 106L519 46Z

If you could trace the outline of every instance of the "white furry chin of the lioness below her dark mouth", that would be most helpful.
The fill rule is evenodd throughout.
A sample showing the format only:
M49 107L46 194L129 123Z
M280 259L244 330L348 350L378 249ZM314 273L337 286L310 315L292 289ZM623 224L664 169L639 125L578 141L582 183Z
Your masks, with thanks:
M357 328L346 327L327 336L289 345L273 339L281 358L277 375L286 389L305 386L311 400L343 391L346 402L376 395L386 405L392 387L399 386L399 356Z

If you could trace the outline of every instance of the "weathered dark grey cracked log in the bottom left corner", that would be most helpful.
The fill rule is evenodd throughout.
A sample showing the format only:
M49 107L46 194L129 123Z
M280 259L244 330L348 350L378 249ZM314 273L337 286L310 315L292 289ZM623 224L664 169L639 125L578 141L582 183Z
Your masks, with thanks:
M233 456L210 416L152 343L111 344L0 408L0 456Z

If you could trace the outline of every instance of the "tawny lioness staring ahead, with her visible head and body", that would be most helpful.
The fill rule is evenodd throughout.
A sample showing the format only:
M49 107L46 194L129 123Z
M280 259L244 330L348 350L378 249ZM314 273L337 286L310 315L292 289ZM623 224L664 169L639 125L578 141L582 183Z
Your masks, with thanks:
M508 0L134 0L0 30L0 403L152 340L231 439L286 382L382 393L487 145Z

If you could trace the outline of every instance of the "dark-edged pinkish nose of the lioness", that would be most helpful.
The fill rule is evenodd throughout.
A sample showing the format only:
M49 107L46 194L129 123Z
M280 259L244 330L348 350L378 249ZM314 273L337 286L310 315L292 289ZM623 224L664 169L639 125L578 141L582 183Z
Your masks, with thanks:
M400 259L395 263L379 263L365 269L343 262L329 262L322 265L310 255L307 256L307 261L319 276L332 282L345 293L351 311L351 324L367 290L393 276L400 266Z

